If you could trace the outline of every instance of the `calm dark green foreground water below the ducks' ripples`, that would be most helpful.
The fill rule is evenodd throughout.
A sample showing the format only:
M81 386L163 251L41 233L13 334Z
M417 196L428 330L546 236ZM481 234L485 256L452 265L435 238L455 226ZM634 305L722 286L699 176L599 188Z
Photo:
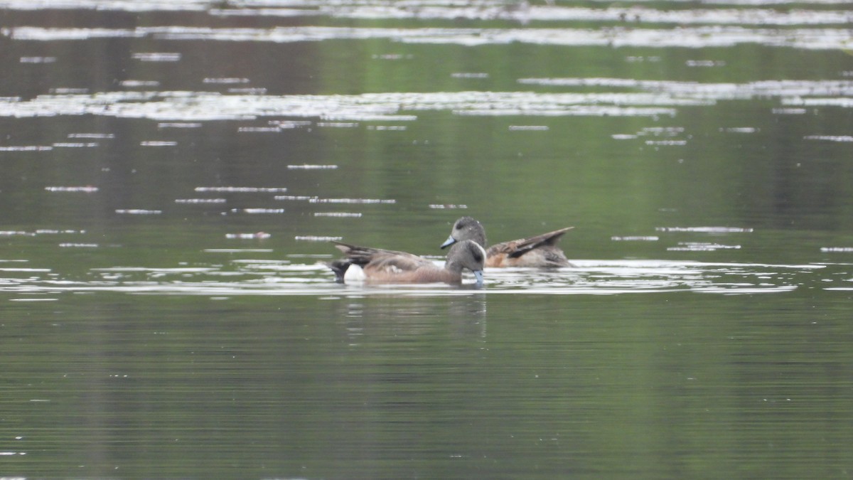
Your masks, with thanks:
M652 296L13 304L4 471L849 474L853 354L838 301Z

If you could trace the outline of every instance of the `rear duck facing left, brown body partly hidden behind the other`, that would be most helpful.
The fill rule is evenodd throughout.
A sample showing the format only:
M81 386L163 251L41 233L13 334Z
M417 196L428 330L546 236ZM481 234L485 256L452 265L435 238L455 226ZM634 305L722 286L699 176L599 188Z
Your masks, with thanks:
M560 237L572 228L567 226L536 237L496 243L486 249L485 266L572 266L566 260L566 254L557 246ZM456 220L450 230L450 237L442 243L441 248L466 240L473 240L485 248L485 228L471 217Z

